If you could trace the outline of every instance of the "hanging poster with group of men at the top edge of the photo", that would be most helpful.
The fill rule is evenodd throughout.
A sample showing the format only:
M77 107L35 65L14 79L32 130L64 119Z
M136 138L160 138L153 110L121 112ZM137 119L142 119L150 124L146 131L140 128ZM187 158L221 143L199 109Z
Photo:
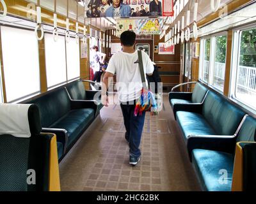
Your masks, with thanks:
M173 15L173 0L86 0L84 2L87 5L87 18L162 17L163 10L164 16Z

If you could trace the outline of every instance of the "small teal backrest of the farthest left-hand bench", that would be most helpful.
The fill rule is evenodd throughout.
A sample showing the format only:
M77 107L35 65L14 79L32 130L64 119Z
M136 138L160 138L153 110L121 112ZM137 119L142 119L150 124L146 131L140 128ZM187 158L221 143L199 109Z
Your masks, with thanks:
M68 84L66 87L71 99L86 100L86 91L84 90L84 84L81 80L72 82Z

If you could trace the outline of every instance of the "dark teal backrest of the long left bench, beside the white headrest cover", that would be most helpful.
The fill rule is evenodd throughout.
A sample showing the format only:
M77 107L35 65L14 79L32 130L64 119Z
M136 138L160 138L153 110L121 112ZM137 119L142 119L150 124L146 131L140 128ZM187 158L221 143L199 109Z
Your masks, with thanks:
M70 111L70 99L64 87L26 101L26 103L35 103L38 106L43 128L49 128Z

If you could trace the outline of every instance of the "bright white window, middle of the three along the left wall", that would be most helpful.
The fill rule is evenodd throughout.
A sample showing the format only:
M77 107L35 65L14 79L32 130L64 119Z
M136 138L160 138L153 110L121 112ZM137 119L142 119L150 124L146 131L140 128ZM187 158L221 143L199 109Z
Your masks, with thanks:
M45 34L45 63L49 89L67 82L65 37L54 41L52 34Z

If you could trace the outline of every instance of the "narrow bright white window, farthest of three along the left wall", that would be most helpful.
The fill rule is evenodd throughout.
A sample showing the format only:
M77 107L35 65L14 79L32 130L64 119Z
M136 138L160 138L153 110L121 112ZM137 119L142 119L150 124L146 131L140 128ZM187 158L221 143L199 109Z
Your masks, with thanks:
M68 80L80 77L79 44L76 38L70 38L67 47L67 77Z

